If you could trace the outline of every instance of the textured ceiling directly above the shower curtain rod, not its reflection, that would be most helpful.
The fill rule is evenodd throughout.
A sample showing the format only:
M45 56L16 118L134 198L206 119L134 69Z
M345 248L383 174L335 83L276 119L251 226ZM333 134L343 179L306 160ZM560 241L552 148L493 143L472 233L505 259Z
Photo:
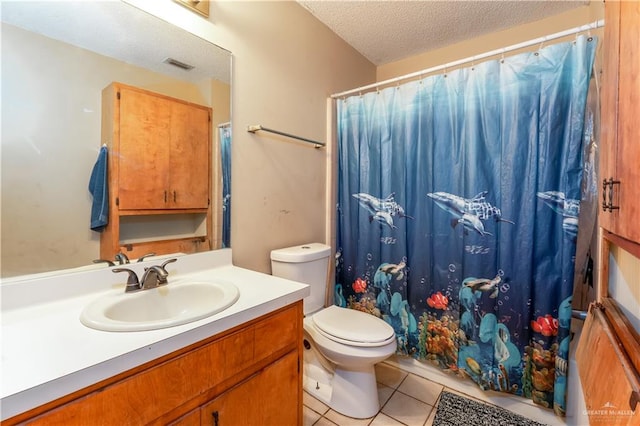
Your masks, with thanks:
M298 3L372 63L383 65L589 2L298 0Z

